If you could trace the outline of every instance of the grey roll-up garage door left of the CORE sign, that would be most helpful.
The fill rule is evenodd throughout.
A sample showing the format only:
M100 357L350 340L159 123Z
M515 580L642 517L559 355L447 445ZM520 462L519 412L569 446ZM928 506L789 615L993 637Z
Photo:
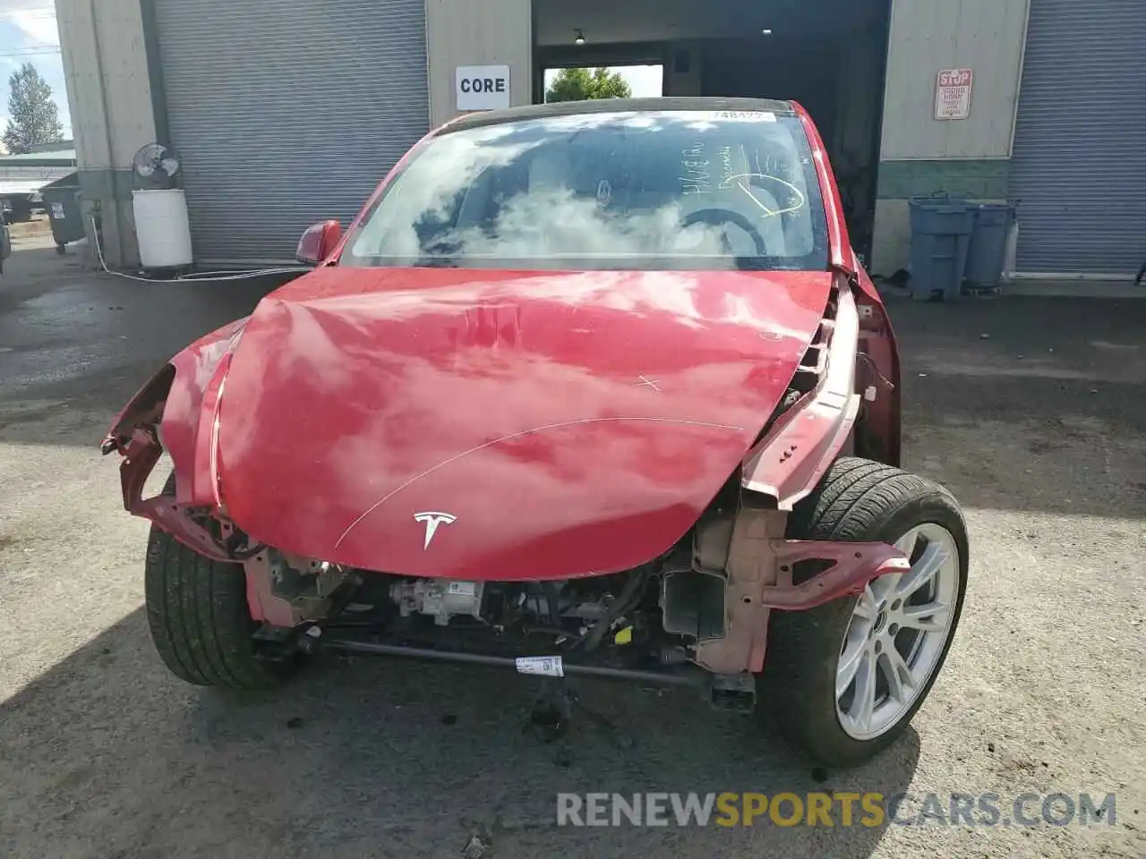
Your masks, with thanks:
M429 127L425 0L156 0L196 261L293 259Z

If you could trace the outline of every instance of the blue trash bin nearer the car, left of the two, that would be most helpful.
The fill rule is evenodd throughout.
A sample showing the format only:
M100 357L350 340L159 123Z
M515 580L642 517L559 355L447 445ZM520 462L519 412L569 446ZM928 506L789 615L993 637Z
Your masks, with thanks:
M911 294L917 301L958 299L975 211L945 194L912 197Z

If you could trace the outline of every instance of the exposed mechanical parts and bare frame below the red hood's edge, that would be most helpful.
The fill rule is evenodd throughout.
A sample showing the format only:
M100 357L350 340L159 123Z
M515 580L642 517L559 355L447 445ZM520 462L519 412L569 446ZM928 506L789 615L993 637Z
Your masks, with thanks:
M767 504L719 498L654 562L565 581L416 578L266 549L246 575L272 659L331 646L550 677L696 683L715 706L747 710L771 610L822 605L904 569L884 544L785 539L786 521Z

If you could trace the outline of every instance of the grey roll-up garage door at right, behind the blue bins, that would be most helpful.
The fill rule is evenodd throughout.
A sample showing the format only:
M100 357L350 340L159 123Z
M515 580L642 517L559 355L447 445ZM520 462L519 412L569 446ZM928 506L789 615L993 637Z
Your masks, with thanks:
M1011 164L1018 269L1146 258L1146 0L1030 0Z

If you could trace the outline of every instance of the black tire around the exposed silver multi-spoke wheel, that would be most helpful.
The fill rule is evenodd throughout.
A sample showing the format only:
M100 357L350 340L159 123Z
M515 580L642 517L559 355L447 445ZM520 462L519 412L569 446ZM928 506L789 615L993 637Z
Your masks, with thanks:
M835 672L858 597L808 612L774 612L764 679L785 739L824 766L856 766L906 730L943 668L967 585L967 528L958 503L939 483L868 459L838 459L788 518L788 538L895 543L912 528L935 523L955 538L959 585L951 628L939 661L915 703L886 733L856 740L837 715Z

